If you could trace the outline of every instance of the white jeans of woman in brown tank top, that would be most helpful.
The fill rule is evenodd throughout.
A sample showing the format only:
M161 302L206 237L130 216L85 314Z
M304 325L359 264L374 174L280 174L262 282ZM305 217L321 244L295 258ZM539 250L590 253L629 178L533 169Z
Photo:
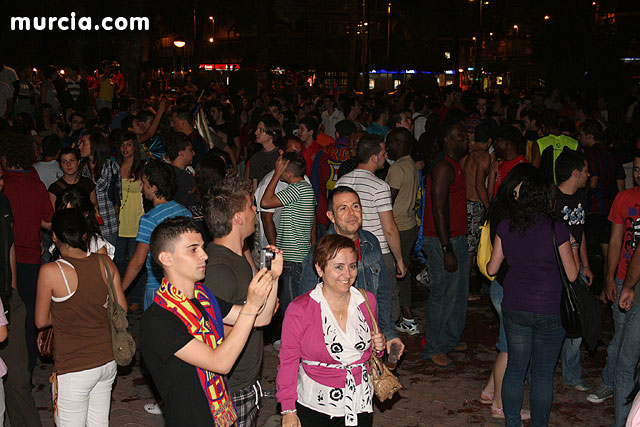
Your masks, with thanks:
M112 360L97 368L58 375L57 426L108 427L116 373Z

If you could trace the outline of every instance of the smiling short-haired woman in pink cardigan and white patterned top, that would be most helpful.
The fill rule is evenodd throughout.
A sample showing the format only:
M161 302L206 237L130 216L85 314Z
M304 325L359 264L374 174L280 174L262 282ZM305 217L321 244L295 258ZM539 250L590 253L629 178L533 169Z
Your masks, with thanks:
M283 427L371 426L373 385L366 362L384 350L360 291L352 287L358 249L346 237L327 235L313 264L321 282L296 298L282 323L277 399ZM374 315L373 294L367 292Z

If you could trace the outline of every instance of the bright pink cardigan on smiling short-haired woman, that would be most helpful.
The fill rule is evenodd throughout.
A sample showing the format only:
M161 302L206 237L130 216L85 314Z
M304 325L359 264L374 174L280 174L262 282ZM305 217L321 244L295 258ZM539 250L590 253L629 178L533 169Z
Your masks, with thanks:
M369 304L374 316L377 317L376 298L371 292L367 292ZM360 310L373 331L371 317L365 303L360 304ZM323 362L327 364L338 363L331 357L324 343L322 331L320 303L309 296L309 292L299 296L287 308L282 322L282 338L280 342L280 366L276 377L276 398L282 410L295 409L298 400L298 369L300 359ZM371 348L365 351L362 358L356 363L369 360ZM328 368L323 366L311 366L303 364L306 374L314 381L328 387L344 388L347 373L344 369ZM362 368L353 369L356 384L360 384Z

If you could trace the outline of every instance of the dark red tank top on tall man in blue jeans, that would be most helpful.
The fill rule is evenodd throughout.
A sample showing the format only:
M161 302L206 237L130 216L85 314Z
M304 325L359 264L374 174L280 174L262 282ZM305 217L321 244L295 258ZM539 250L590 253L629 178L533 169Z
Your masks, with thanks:
M449 184L445 218L449 224L449 237L464 236L467 234L467 187L464 173L460 164L451 157L444 155L453 169L454 178ZM435 165L435 163L434 163ZM436 226L433 220L433 204L431 203L431 174L427 175L425 186L424 226L422 234L427 237L437 237Z

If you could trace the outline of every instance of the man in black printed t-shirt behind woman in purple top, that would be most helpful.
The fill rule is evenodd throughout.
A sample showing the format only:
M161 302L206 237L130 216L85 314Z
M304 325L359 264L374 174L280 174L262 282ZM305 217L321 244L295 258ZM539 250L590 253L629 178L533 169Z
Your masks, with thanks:
M589 285L593 282L593 272L587 256L587 242L584 237L586 218L586 195L584 187L589 177L587 161L582 153L564 150L556 160L556 218L564 221L569 232L580 245L580 269L583 279ZM582 380L580 368L580 343L582 337L565 338L562 345L562 382L578 391L587 391L589 387Z

